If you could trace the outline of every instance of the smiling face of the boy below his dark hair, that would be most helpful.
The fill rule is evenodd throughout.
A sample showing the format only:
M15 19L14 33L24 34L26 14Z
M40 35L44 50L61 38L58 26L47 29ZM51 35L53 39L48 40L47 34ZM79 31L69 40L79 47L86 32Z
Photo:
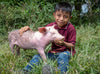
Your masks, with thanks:
M61 10L54 12L53 15L59 28L66 25L71 18L70 13Z

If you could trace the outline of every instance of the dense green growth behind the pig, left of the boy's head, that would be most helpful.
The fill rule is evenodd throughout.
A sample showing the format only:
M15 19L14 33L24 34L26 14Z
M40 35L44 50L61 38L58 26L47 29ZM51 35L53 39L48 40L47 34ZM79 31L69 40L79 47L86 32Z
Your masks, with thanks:
M4 33L26 25L36 30L39 26L53 22L53 5L38 0L21 3L19 6L0 3L0 32Z

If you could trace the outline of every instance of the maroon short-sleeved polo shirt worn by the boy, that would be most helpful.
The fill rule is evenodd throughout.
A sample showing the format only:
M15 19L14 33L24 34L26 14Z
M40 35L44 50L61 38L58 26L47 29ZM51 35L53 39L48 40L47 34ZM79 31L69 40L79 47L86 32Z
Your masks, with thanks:
M52 26L52 25L55 25L55 29L57 29L58 32L65 37L64 41L75 45L75 43L76 43L76 30L71 23L68 23L61 28L59 28L57 26L56 22L50 23L46 26ZM65 46L57 45L54 42L52 42L52 50L50 50L49 53L59 53L59 52L64 52L64 51L70 51L70 52L72 52L72 55L74 55L76 53L75 49L70 50Z

